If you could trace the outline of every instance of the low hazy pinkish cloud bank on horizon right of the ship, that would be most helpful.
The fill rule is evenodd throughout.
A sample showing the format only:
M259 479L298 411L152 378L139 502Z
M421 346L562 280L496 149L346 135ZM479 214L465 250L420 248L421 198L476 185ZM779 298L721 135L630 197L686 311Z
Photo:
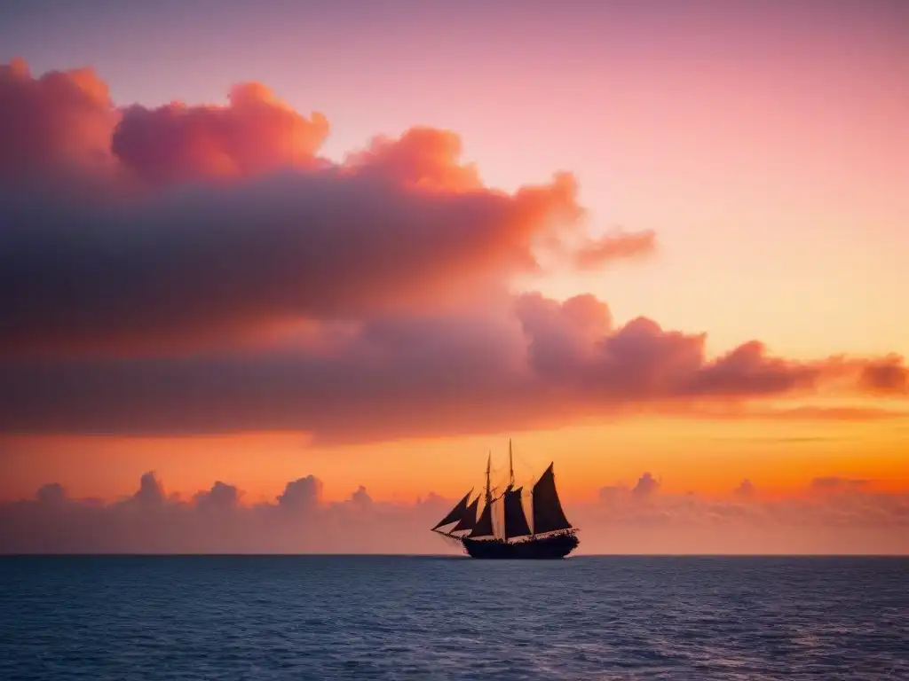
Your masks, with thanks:
M641 480L652 479L642 475ZM842 479L837 479L842 480ZM823 484L823 483L822 483ZM829 483L828 483L829 484ZM814 489L810 484L809 491ZM732 498L654 489L641 503L625 485L599 503L569 506L594 528L595 548L632 553L909 553L909 495L838 484L844 493L762 498L747 479Z

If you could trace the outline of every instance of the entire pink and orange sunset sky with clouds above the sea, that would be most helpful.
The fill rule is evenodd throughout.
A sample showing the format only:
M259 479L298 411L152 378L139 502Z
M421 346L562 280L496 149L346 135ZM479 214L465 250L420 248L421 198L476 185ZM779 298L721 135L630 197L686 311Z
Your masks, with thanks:
M904 3L35 0L0 64L0 551L444 551L512 438L582 551L909 552Z

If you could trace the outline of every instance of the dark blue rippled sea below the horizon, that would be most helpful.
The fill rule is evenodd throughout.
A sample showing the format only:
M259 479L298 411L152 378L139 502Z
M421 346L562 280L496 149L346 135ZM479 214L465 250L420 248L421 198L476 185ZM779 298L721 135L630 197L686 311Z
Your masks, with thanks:
M909 560L0 558L0 679L909 679Z

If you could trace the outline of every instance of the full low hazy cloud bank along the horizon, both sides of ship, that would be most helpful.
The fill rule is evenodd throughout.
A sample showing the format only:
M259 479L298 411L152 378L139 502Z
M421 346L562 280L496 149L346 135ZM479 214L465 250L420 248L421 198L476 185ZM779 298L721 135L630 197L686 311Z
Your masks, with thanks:
M644 482L646 481L646 482ZM906 553L909 497L867 489L847 495L725 500L667 494L644 473L634 489L604 487L600 500L563 499L584 528L586 553ZM454 505L429 494L413 503L370 498L361 486L326 501L322 481L289 481L274 501L244 505L215 482L191 500L165 498L154 473L113 503L67 497L45 485L35 498L0 503L0 553L453 553L428 531Z

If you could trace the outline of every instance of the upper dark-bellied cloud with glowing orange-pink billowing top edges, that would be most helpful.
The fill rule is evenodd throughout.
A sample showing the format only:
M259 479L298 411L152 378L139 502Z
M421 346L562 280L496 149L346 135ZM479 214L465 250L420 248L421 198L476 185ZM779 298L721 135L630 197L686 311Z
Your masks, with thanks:
M4 74L3 351L154 347L435 309L503 290L538 267L538 249L583 237L570 174L496 191L447 131L377 137L335 164L315 155L325 117L263 85L235 87L223 106L117 111L90 71L35 80L17 62ZM61 173L101 189L47 182Z

